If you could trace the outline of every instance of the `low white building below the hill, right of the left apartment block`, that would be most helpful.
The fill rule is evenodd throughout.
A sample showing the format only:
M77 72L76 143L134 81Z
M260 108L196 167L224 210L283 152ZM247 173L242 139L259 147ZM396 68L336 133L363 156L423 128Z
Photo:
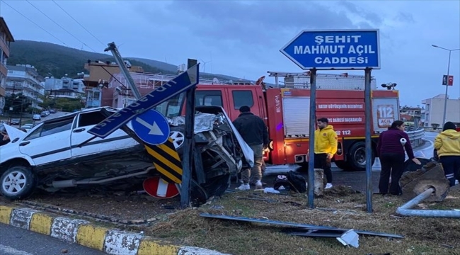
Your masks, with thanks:
M67 75L61 79L45 77L45 91L57 98L84 98L85 85L83 79L73 79Z

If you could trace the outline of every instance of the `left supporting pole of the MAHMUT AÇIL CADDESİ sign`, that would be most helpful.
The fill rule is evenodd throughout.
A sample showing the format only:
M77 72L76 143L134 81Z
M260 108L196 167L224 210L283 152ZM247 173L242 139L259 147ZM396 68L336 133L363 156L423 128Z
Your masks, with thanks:
M316 69L310 69L310 130L309 130L309 208L313 209L315 197L315 130L316 130Z

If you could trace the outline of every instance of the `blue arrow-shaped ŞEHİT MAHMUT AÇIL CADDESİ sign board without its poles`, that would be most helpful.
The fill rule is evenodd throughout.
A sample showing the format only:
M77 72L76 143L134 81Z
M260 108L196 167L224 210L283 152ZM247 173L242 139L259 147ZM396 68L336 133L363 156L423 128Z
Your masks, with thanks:
M303 30L280 50L301 69L380 69L379 30Z

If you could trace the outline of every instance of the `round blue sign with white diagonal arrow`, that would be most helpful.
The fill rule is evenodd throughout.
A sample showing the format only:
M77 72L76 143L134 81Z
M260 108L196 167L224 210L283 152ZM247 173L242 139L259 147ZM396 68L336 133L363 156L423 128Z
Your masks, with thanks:
M136 135L149 145L162 145L169 137L168 120L159 111L150 109L131 120Z

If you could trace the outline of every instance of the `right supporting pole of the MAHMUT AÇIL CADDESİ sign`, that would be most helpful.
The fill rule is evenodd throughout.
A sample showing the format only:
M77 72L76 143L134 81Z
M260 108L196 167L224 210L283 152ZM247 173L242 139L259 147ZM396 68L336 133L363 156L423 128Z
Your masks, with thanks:
M372 212L372 138L371 138L371 71L364 69L364 104L366 117L366 203L367 212Z

